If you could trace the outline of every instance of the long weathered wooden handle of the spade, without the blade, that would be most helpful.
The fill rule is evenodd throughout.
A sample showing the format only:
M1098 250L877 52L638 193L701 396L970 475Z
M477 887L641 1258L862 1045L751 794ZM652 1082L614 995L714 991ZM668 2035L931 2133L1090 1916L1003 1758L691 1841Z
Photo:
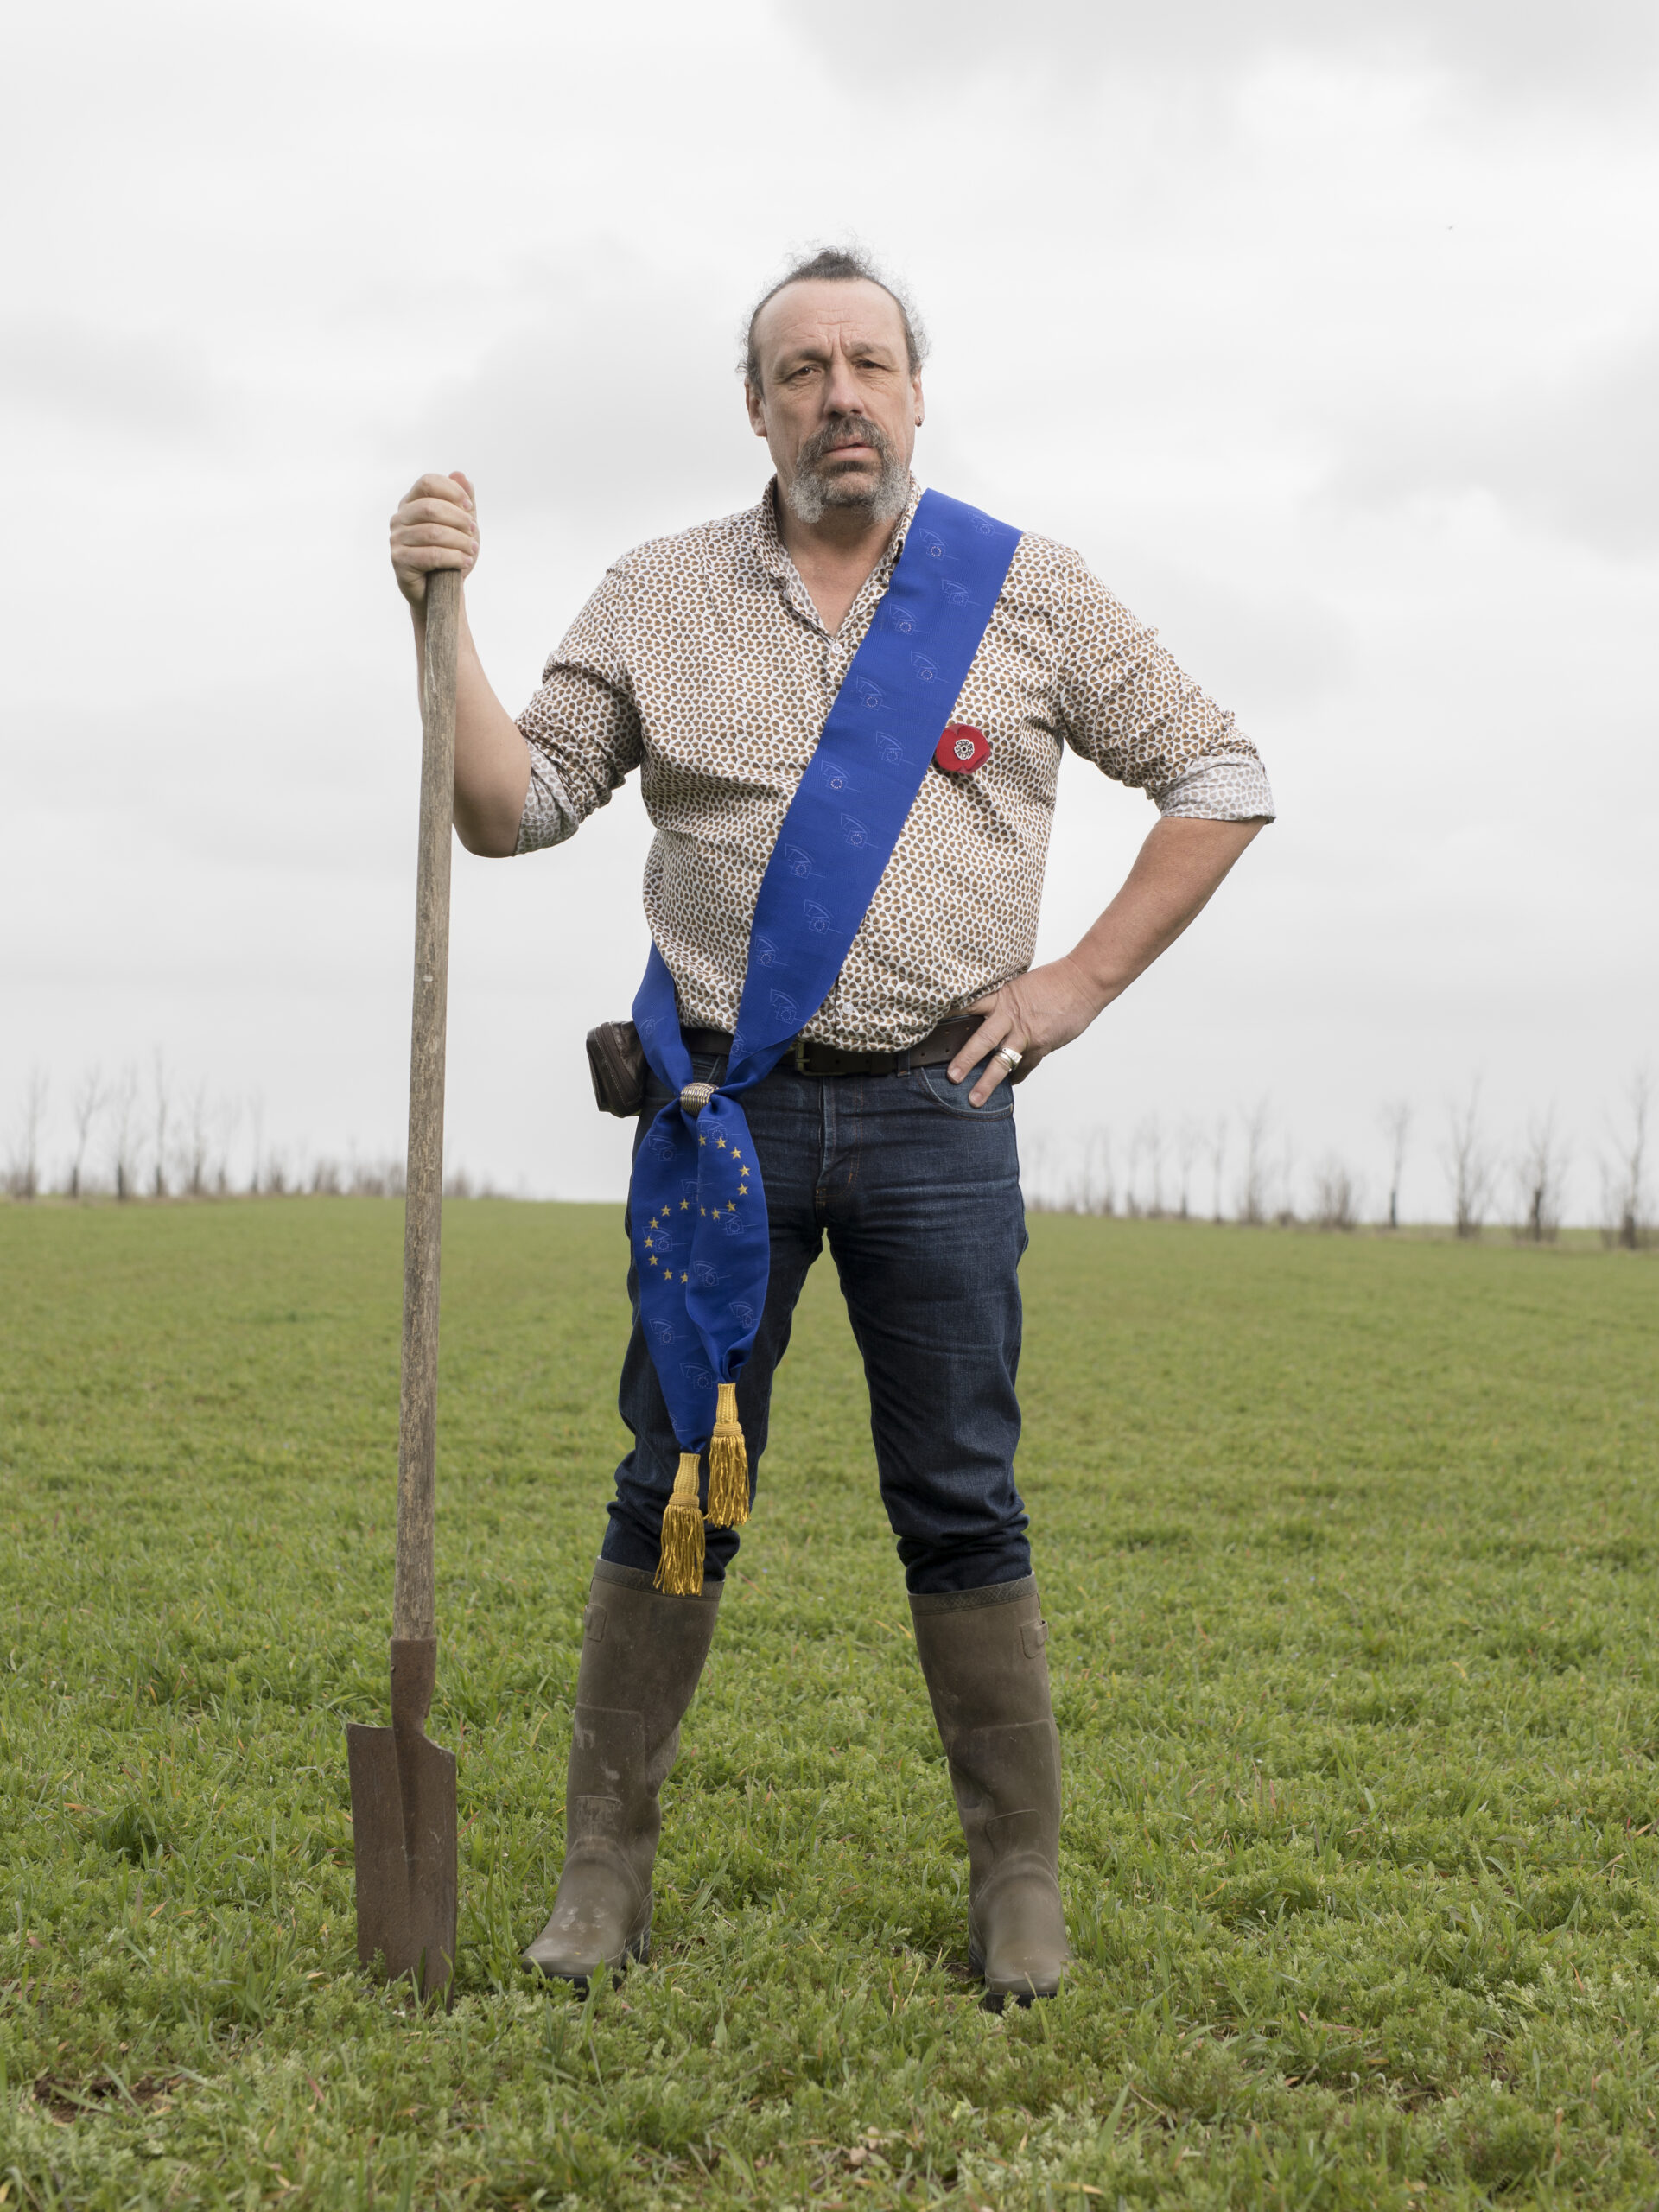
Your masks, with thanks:
M392 1635L434 1637L438 1491L438 1241L445 1194L445 1018L449 1009L449 841L456 814L456 639L460 573L427 577L420 690L420 867L409 1031L409 1175L403 1217L403 1398L398 1409L398 1584Z

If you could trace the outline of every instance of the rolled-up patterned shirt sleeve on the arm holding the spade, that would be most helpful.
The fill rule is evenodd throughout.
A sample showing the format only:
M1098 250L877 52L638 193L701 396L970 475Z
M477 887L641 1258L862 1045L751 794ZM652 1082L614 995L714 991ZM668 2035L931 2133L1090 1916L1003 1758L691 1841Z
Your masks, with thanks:
M518 717L531 748L531 787L515 852L575 836L639 765L639 708L628 675L628 575L617 562L575 617Z

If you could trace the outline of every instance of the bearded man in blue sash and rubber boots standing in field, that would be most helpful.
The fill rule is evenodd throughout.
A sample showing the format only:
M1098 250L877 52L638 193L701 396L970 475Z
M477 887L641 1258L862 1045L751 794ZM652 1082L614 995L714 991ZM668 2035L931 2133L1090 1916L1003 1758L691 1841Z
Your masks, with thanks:
M564 1871L526 1951L577 1984L648 1944L657 1792L825 1237L969 1845L969 1958L993 2000L1024 2002L1068 1958L1046 1628L1013 1484L1009 1077L1186 929L1272 794L1232 717L1075 553L920 491L920 367L916 319L858 257L799 263L750 321L743 389L776 471L759 507L619 560L518 721L462 622L462 843L553 845L633 768L657 825L635 1447L584 1615ZM422 476L392 522L416 646L427 575L476 557L469 482ZM1033 969L1062 745L1161 818L1084 940Z

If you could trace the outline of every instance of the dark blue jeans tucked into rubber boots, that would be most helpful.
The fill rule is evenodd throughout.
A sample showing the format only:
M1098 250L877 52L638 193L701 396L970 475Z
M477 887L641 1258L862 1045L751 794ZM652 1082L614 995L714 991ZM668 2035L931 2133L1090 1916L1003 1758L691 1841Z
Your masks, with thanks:
M697 1060L714 1082L721 1060ZM978 1590L1031 1573L1026 1511L1013 1486L1020 1405L1020 1254L1026 1248L1013 1091L969 1106L978 1068L799 1075L781 1066L743 1093L765 1183L772 1279L737 1383L754 1482L765 1451L772 1371L825 1237L869 1385L869 1431L887 1520L914 1593ZM668 1104L653 1077L639 1137ZM679 1444L639 1329L622 1365L622 1418L635 1447L617 1469L602 1557L655 1571ZM703 1467L703 1504L708 1469ZM708 1531L706 1575L721 1579L737 1528Z

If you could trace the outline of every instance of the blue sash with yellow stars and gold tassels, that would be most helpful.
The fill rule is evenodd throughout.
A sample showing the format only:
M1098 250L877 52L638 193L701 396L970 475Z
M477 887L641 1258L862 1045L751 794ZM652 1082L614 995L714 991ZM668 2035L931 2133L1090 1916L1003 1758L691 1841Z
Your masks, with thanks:
M701 1588L703 1447L708 1520L748 1520L734 1385L765 1307L770 1239L739 1097L772 1073L841 975L1018 544L1006 522L922 493L765 865L732 1055L701 1106L681 1097L695 1071L675 980L650 947L633 1018L675 1102L646 1130L628 1199L639 1316L681 1451L659 1588Z

